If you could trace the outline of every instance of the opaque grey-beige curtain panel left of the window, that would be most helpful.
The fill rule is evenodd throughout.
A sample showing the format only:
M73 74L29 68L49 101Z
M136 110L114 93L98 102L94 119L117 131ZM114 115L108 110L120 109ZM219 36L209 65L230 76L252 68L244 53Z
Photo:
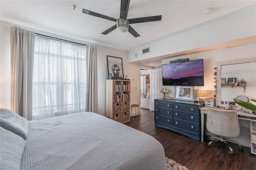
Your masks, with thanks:
M32 119L32 78L34 62L34 32L11 27L11 94L10 109Z

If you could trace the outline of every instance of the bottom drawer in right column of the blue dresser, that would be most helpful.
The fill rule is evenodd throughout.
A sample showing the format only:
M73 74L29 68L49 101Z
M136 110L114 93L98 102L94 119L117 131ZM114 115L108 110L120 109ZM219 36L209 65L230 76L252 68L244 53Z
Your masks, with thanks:
M198 124L173 118L173 126L198 133Z

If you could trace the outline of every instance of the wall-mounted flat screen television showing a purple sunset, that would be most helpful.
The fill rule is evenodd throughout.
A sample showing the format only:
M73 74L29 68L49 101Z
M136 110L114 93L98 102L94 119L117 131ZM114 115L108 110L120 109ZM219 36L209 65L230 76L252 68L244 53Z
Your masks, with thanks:
M163 85L204 86L203 59L162 65Z

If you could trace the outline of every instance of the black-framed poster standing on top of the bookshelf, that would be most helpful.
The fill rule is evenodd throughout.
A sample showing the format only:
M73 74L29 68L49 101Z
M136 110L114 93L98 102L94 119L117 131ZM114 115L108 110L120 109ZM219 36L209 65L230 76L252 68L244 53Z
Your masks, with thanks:
M124 79L122 58L107 55L107 60L108 74L112 75L112 79Z

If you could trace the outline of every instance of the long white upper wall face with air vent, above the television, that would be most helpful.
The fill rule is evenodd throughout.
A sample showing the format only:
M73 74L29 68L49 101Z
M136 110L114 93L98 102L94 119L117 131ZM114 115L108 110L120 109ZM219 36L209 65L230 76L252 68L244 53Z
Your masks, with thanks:
M128 62L178 53L218 43L256 35L256 5L181 30L153 43L146 43L128 51ZM142 55L142 49L150 47L150 53ZM138 53L138 57L135 57ZM222 58L223 60L223 58Z

